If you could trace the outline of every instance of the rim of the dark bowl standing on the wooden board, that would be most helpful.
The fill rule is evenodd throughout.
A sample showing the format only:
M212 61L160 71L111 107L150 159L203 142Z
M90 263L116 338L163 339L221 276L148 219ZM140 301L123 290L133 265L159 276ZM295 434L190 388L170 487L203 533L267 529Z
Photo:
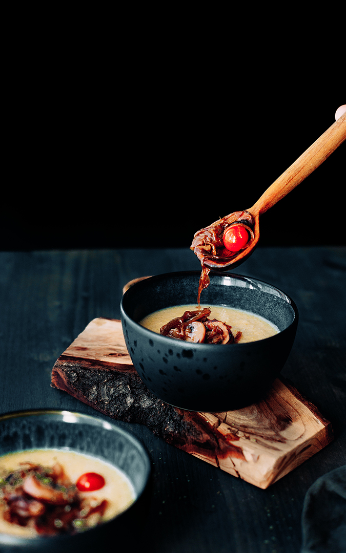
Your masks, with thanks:
M198 270L189 270L189 271L177 271L177 272L162 273L162 274L156 274L156 275L148 276L146 279L138 281L136 284L131 286L131 288L126 290L126 292L122 295L122 298L121 298L121 301L120 301L120 313L121 313L122 324L123 324L123 316L125 315L126 317L128 317L128 319L130 319L132 321L133 325L136 325L137 327L141 328L141 331L143 331L145 334L147 334L148 337L155 336L155 339L158 340L159 343L165 344L167 346L169 344L172 345L172 337L163 336L163 335L159 334L158 332L154 332L152 330L149 330L149 328L146 328L146 327L142 326L139 322L132 319L132 317L130 317L130 315L128 315L127 311L125 310L123 302L124 302L124 300L126 302L127 297L133 293L134 288L136 288L137 290L138 290L138 288L141 288L141 287L145 288L148 281L150 282L150 281L160 280L160 279L164 279L164 278L172 278L172 276L180 277L180 276L192 276L192 275L193 276L198 276L198 278L199 278L200 271L198 271ZM238 281L242 280L242 281L246 281L246 282L249 282L249 283L251 283L251 282L252 283L257 283L257 284L260 285L260 288L266 288L266 289L270 288L270 290L273 290L272 295L275 295L278 298L281 298L283 301L286 301L287 304L290 305L292 307L292 310L293 310L293 319L292 319L290 325L288 325L286 328L284 328L280 332L277 332L275 335L269 336L267 338L262 338L262 340L254 340L254 341L251 341L251 342L240 342L240 343L237 343L237 344L231 344L231 346L237 346L238 348L239 347L249 347L249 344L255 344L255 343L258 343L258 342L265 342L266 340L273 340L273 338L275 338L276 336L282 335L283 332L287 332L292 327L292 325L297 324L297 322L298 322L298 308L297 308L297 305L296 305L295 301L293 301L291 296L286 294L286 292L284 292L280 288L277 288L277 286L274 286L273 284L267 283L264 280L257 279L253 276L240 275L238 273L220 273L218 271L212 271L211 270L210 271L210 278L212 278L213 276L215 276L216 278L229 278L229 279L234 279L234 280L238 280ZM271 293L269 290L262 290L262 291L264 291L264 293ZM197 297L197 293L196 293L196 297ZM205 302L203 302L201 300L201 304L204 304L204 303ZM173 340L174 340L174 338L173 338ZM175 344L177 344L177 342L179 342L179 344L181 343L181 345L184 345L185 349L188 348L188 349L199 349L200 350L200 348L202 347L204 349L212 348L211 351L216 352L215 348L218 348L218 349L221 348L222 351L224 351L224 348L225 348L225 346L223 344L205 344L205 343L185 342L184 340L174 340Z

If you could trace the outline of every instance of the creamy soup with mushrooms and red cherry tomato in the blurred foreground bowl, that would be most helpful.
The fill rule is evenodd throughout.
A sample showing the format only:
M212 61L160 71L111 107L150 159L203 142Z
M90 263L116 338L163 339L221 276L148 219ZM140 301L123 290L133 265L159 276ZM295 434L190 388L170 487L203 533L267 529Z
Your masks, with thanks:
M76 534L116 517L134 500L125 474L95 457L58 450L0 457L3 534Z

